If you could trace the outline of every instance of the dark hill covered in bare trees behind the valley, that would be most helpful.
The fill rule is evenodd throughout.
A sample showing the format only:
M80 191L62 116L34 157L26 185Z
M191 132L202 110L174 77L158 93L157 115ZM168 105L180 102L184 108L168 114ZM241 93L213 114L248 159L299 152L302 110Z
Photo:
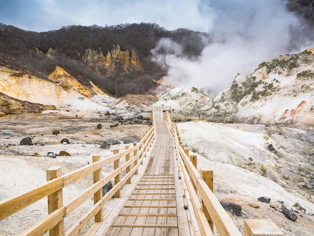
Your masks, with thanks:
M151 60L160 39L170 38L182 45L184 56L195 57L205 47L205 35L148 23L67 26L41 33L0 24L0 51L44 76L59 65L82 82L123 95L149 91L167 74L167 68Z

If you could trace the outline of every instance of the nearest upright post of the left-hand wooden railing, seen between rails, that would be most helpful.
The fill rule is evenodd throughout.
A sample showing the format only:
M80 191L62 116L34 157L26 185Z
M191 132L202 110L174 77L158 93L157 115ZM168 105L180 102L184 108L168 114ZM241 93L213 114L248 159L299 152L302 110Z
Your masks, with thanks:
M62 175L61 167L53 167L46 170L47 181L58 178ZM48 214L63 207L62 189L48 195ZM64 219L57 223L52 229L49 230L50 236L64 235Z

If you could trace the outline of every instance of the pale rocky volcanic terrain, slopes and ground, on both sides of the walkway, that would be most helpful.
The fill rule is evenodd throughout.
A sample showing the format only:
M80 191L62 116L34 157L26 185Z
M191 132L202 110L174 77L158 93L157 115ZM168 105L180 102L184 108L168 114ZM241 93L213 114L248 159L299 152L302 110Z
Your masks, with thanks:
M197 88L112 97L61 66L46 77L2 60L0 200L45 182L50 167L68 173L93 155L108 157L137 142L151 124L143 108L164 104L172 106L183 143L198 155L198 169L214 170L217 198L242 207L241 216L229 213L242 232L245 218L270 218L284 235L314 235L313 55L309 49L261 63L215 98ZM21 145L27 137L33 145ZM89 181L71 187L65 199ZM258 200L263 196L270 202ZM0 234L17 235L43 217L46 202L39 204L0 221Z

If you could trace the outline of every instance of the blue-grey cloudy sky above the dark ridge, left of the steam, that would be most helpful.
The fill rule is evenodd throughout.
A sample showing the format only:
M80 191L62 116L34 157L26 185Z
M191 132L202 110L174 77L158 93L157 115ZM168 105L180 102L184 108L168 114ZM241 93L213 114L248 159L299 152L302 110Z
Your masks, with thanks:
M0 22L24 30L49 31L70 25L156 23L167 30L208 32L208 4L198 0L1 0ZM204 1L208 2L208 1Z

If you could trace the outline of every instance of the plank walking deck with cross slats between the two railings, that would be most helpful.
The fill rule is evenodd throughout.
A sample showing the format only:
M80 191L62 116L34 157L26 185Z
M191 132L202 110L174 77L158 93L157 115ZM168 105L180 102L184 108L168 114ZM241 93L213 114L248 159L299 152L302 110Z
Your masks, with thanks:
M174 139L161 113L154 112L154 124L155 140L137 179L91 235L193 234L184 209Z

